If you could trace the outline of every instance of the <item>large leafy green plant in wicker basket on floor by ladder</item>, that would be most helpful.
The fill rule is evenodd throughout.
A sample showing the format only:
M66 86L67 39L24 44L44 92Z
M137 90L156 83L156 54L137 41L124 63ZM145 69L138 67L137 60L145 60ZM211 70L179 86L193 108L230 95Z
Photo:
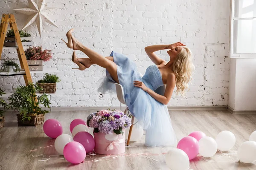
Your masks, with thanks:
M36 91L40 90L39 85L29 82L26 86L18 86L8 97L10 107L20 112L17 114L18 125L37 126L44 123L44 115L49 111L43 110L42 105L50 109L51 103L49 95L36 95Z

